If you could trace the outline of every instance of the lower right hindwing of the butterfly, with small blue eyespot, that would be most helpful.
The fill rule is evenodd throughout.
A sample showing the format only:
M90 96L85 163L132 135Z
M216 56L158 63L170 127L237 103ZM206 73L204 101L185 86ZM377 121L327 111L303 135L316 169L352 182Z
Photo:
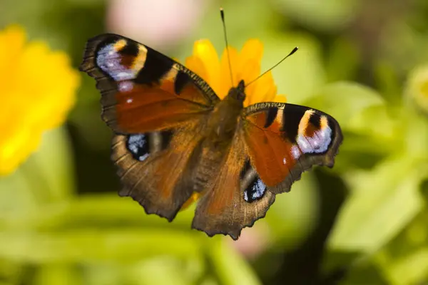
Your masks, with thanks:
M265 217L275 201L250 165L243 133L237 132L218 175L203 191L192 227L209 236L228 234L238 239L243 227Z

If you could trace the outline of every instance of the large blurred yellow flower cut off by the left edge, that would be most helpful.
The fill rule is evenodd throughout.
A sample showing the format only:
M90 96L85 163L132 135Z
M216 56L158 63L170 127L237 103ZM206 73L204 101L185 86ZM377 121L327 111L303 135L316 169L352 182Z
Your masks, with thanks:
M66 53L26 43L20 26L0 31L0 175L37 149L45 130L63 123L79 81Z

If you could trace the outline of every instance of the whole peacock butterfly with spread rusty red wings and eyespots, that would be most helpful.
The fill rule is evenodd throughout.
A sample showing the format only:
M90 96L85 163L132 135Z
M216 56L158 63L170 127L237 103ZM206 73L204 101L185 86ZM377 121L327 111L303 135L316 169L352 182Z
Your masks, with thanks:
M185 66L116 34L88 40L80 70L95 78L115 133L119 195L171 222L198 193L192 227L210 237L238 239L302 172L332 167L342 142L340 125L320 110L244 108L244 81L220 100Z

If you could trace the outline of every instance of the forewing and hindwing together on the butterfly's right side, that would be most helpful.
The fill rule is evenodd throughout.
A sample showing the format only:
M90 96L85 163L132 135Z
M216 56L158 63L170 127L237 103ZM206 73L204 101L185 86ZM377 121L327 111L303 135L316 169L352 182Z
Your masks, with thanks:
M193 227L238 239L303 171L332 167L341 142L339 124L318 110L285 103L245 108L218 176L198 202Z

